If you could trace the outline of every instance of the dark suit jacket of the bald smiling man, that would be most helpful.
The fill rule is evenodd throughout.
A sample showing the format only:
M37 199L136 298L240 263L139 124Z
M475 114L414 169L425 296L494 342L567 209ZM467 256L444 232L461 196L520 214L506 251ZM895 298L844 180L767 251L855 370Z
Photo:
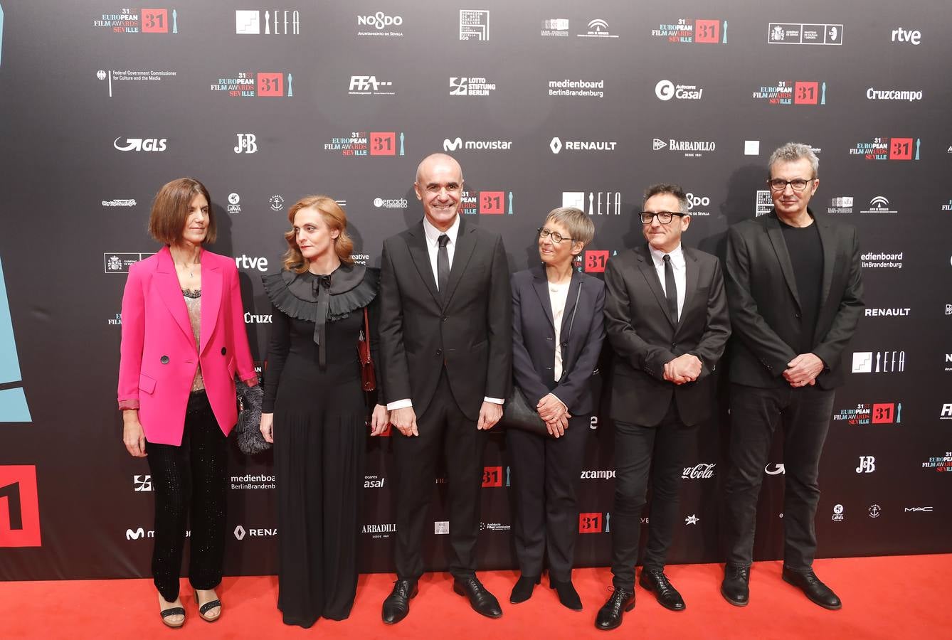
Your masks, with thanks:
M466 417L507 398L512 305L503 240L460 220L446 295L436 288L423 221L384 241L380 351L386 402L410 398L422 417L443 367Z

